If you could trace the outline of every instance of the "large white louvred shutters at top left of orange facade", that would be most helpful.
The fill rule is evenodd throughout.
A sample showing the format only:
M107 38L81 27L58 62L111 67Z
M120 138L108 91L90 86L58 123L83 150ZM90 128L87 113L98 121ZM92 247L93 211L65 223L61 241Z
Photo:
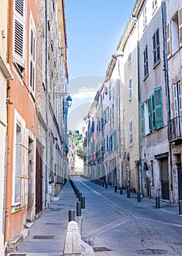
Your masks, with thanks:
M15 0L13 22L13 59L20 72L23 72L25 67L26 0Z

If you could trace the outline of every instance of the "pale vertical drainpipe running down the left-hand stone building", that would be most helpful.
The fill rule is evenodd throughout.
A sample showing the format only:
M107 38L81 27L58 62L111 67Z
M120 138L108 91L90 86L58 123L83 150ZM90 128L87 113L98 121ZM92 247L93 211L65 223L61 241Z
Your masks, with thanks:
M48 86L48 7L49 0L45 0L45 81L46 81L46 165L45 165L45 206L48 207L48 177L49 177L49 86Z

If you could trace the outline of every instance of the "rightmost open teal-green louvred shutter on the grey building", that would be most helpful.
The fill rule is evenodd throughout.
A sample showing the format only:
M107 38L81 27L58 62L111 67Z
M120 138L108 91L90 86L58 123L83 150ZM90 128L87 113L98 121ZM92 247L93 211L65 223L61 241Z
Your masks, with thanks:
M163 109L162 109L162 88L154 89L155 108L156 108L156 127L163 125Z

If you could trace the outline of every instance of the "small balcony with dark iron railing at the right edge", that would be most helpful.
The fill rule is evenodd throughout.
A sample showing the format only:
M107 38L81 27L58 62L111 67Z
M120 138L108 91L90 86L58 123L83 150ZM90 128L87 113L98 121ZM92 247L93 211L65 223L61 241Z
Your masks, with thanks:
M170 120L170 141L182 140L182 116Z

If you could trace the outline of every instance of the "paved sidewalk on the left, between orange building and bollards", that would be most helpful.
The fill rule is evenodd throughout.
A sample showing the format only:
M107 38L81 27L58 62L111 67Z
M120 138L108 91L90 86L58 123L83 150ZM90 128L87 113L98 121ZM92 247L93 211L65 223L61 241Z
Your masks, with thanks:
M61 200L58 200L58 197L61 197ZM56 195L55 201L51 202L50 207L29 228L29 235L20 242L15 252L8 253L7 256L61 256L67 233L69 210L75 210L76 203L75 193L67 181L64 188Z

